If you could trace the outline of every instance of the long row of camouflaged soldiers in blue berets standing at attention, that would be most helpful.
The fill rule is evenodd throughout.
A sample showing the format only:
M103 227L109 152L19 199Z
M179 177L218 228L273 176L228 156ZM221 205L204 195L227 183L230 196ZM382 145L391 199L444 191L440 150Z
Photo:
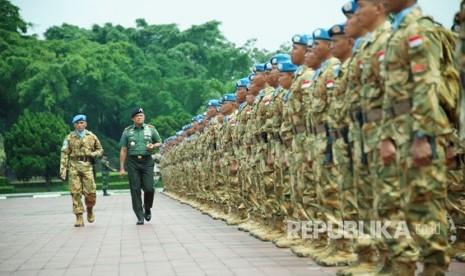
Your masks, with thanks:
M345 24L295 35L290 56L255 65L235 94L210 100L165 141L166 193L320 265L349 265L338 275L414 275L416 262L443 275L451 257L465 261L464 137L453 114L462 92L444 77L449 33L415 0L342 11ZM291 223L318 221L332 227L287 235ZM347 233L349 221L365 234ZM373 221L387 235L367 234ZM395 235L403 223L411 237Z

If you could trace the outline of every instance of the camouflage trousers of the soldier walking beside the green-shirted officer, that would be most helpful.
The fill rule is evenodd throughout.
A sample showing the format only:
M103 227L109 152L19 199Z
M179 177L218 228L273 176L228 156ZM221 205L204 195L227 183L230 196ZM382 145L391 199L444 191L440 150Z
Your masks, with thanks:
M94 172L89 162L71 160L69 167L69 191L73 200L73 213L82 214L82 195L86 207L92 208L96 201Z

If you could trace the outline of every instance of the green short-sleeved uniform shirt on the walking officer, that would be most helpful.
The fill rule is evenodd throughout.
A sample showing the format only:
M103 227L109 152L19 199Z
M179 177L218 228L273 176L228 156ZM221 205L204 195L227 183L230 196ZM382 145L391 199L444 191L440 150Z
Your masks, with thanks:
M149 155L152 151L147 151L147 144L161 143L160 135L154 126L143 124L137 128L132 125L124 129L119 145L128 148L129 155Z

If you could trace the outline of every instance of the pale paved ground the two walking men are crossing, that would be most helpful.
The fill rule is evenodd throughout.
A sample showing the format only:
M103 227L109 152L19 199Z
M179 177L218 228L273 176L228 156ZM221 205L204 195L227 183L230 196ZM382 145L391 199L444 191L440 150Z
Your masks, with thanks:
M0 200L0 275L335 275L162 194L136 226L129 194L75 228L69 196ZM455 262L448 275L464 275Z

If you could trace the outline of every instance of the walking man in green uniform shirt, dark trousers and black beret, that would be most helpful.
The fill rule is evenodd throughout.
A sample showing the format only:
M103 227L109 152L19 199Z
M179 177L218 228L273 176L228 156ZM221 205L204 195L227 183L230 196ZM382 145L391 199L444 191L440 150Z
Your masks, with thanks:
M141 107L131 111L133 125L124 129L120 140L120 177L125 175L124 163L127 159L129 187L131 190L132 209L137 216L137 224L150 221L153 204L153 166L152 152L162 146L162 141L154 126L144 123L145 114ZM129 154L129 158L127 158ZM144 209L142 208L141 189L144 191Z

